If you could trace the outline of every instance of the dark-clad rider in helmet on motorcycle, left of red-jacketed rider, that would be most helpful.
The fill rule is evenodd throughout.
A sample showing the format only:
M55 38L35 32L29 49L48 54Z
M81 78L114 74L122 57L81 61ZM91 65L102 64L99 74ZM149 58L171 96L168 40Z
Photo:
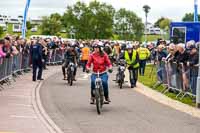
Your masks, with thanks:
M62 64L62 72L63 72L64 80L67 79L65 68L68 67L70 62L74 63L75 66L77 66L77 59L78 59L78 53L75 49L75 45L72 43L69 45L69 48L66 49L65 51L64 62ZM75 80L75 76L76 76L76 67L74 71L74 80Z

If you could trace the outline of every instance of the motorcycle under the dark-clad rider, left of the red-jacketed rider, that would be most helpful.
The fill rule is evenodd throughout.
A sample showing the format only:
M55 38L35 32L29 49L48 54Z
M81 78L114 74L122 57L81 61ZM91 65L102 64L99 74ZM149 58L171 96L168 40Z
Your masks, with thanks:
M67 67L67 81L70 86L73 85L74 71L75 71L75 64L73 62L70 62Z

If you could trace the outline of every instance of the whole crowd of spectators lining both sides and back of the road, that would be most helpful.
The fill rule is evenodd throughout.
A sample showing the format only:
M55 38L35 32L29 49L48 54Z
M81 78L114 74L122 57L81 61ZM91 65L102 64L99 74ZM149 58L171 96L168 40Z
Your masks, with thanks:
M23 39L20 36L11 36L7 35L4 39L0 39L0 64L3 62L3 59L10 58L16 55L21 54L23 56L22 62L27 62L31 65L30 49L31 46L35 43L39 43L42 46L42 58L43 58L43 68L46 68L46 63L51 59L52 55L55 55L55 51L64 53L68 46L74 45L79 54L81 54L81 48L87 44L90 48L96 40L90 41L69 41L63 40L61 38L39 38L34 37L31 39ZM137 43L139 45L139 42ZM124 50L126 42L118 43L114 41L104 40L102 41L104 45L105 52L111 57L117 56L120 54L121 50ZM179 75L182 83L180 88L185 90L192 90L193 94L196 94L196 81L198 76L198 64L199 64L199 45L194 41L189 41L186 44L179 43L167 43L164 40L158 40L157 44L147 43L146 47L151 52L151 60L156 62L158 69L157 75L160 81L164 81L166 75L173 75L175 73L181 73ZM139 46L138 46L139 47ZM114 55L115 53L115 55ZM112 58L111 58L112 59ZM166 63L170 64L167 65ZM177 66L174 67L172 64L176 63ZM193 69L195 68L195 69ZM176 69L176 70L174 70ZM169 71L168 73L166 71ZM166 74L167 73L167 74ZM189 75L189 76L188 76ZM171 78L173 79L173 78ZM173 82L179 82L173 81ZM173 83L170 83L173 84ZM179 87L179 86L176 86Z

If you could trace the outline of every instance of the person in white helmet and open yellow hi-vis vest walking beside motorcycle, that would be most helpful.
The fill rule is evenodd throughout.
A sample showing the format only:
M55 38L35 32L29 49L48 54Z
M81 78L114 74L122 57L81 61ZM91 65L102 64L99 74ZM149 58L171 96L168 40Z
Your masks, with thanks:
M139 55L137 51L133 49L132 44L127 45L127 50L120 58L125 59L128 65L131 88L136 87L136 82L138 79Z

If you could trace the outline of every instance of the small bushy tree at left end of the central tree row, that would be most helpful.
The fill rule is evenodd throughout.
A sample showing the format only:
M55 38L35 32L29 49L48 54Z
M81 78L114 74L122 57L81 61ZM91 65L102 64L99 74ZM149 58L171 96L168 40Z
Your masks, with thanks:
M41 30L44 35L56 35L62 28L61 16L57 13L51 14L50 17L43 17Z

